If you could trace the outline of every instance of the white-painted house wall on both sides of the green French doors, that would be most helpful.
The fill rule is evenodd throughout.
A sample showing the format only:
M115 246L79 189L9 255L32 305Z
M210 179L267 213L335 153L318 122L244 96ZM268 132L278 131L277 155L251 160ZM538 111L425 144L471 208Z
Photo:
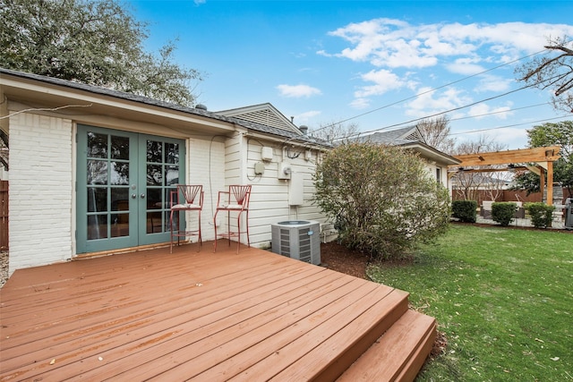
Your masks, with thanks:
M113 127L121 129L122 121ZM126 121L124 123L129 123ZM94 123L96 124L96 123ZM20 114L10 120L10 271L66 261L74 255L75 142L73 122L50 116ZM185 183L202 184L203 240L214 237L213 216L218 191L230 184L252 184L250 239L255 247L269 248L270 225L284 220L317 220L325 223L312 205L312 176L317 150L305 156L303 147L283 149L277 141L252 139L244 132L231 138L204 136L187 140ZM273 148L273 158L264 162L264 174L255 175L261 147ZM299 153L298 157L294 157ZM290 156L290 157L288 157ZM278 164L288 162L301 174L303 204L289 205L289 180L278 179ZM188 214L195 226L196 216ZM219 221L224 221L223 217ZM324 225L329 229L330 225ZM220 227L223 231L227 227ZM242 237L244 242L244 236Z

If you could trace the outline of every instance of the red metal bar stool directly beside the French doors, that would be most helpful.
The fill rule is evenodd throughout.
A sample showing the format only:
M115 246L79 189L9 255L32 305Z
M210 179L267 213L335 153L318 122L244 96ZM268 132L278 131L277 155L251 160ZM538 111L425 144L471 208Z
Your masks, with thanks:
M177 245L179 245L179 238L186 238L187 236L198 236L199 247L201 249L202 236L201 236L201 209L203 208L203 186L191 184L177 184L177 189L171 191L171 216L169 217L169 225L171 227L171 244L169 246L169 253L173 253L173 239L177 238ZM186 225L186 221L181 221L181 211L197 211L198 213L198 227L197 229L187 229L185 227L181 230L181 225ZM176 214L176 215L175 215ZM175 215L175 219L174 219Z

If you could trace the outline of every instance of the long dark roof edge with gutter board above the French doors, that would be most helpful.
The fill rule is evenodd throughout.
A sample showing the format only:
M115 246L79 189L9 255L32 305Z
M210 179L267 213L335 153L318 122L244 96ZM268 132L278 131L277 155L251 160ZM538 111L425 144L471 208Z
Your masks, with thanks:
M213 121L218 121L218 122L223 122L223 123L230 123L232 125L238 125L238 126L244 127L245 129L251 130L253 132L263 132L266 134L275 135L275 136L278 136L280 138L284 138L286 140L289 140L291 142L294 140L297 140L297 141L302 141L303 143L318 144L321 146L329 146L328 144L325 144L325 142L318 141L318 140L313 139L312 137L304 135L298 129L290 129L289 130L289 129L284 129L284 128L278 128L278 127L273 126L273 125L266 125L266 124L257 123L257 122L253 122L253 121L247 121L245 119L235 118L233 116L219 115L217 113L213 113L213 112L204 110L202 108L175 105L175 104L171 104L168 102L159 101L158 99L154 99L154 98L148 98L148 97L138 96L138 95L131 94L131 93L125 93L123 91L106 89L106 88L101 88L98 86L86 85L84 83L75 82L75 81L66 81L66 80L61 80L61 79L57 79L57 78L53 78L53 77L41 76L38 74L31 74L31 73L26 73L26 72L17 72L17 71L13 71L13 70L9 70L9 69L0 68L0 78L7 78L8 76L13 76L15 78L18 78L21 80L26 80L26 81L38 81L38 82L44 83L46 85L63 87L63 88L72 89L75 91L88 92L90 94L97 95L100 97L117 98L117 99L121 99L124 101L138 103L138 104L141 104L144 106L158 107L160 109L164 109L164 110L167 109L168 111L172 111L172 112L183 113L184 115L193 115L193 116L206 118L208 120L213 120ZM4 82L4 81L2 81L2 82ZM4 83L2 83L2 85L6 86ZM14 90L14 94L18 94L17 89ZM22 96L22 99L23 98L24 98L24 96ZM54 98L56 98L56 97L54 97ZM274 109L274 107L273 107L273 109Z

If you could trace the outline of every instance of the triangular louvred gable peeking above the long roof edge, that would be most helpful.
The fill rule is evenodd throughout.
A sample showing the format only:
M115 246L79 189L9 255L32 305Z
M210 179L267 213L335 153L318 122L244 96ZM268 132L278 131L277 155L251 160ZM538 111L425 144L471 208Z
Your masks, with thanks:
M218 111L216 113L218 115L233 116L252 123L260 123L265 126L276 127L277 129L286 130L288 132L303 134L303 132L296 127L295 123L286 118L286 116L280 113L275 106L272 106L269 103L238 107L235 109Z

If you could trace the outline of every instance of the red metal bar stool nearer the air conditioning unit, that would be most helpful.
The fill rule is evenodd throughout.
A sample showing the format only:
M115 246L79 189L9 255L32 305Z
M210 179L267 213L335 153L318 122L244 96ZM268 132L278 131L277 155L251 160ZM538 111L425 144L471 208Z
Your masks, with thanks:
M251 199L251 185L231 185L228 191L218 191L217 211L213 216L213 226L215 227L214 250L217 250L217 239L227 238L231 245L231 238L236 238L236 252L239 253L241 245L241 234L246 233L247 245L251 247L249 240L249 200ZM217 233L217 215L219 212L227 212L227 232ZM231 214L236 213L236 231L231 227ZM241 229L241 217L245 216L246 227Z

